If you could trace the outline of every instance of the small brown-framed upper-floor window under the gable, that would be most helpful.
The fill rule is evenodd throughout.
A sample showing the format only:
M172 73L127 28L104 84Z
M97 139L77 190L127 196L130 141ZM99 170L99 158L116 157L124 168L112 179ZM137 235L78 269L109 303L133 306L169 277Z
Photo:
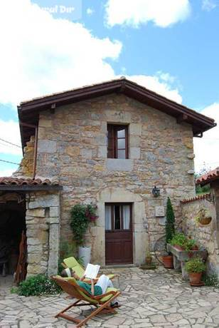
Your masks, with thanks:
M128 125L107 125L107 158L128 158Z

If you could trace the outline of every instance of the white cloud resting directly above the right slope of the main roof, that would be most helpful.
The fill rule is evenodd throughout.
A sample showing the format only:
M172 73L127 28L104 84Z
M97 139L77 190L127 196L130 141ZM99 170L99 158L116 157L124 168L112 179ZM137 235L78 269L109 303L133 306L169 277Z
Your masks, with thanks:
M169 78L171 77L168 73ZM177 88L173 88L171 83L164 81L164 78L161 78L159 74L156 76L146 76L146 75L136 75L136 76L127 76L130 80L139 83L141 86L145 86L146 88L159 93L161 96L171 99L172 101L176 101L177 103L182 103L182 97Z

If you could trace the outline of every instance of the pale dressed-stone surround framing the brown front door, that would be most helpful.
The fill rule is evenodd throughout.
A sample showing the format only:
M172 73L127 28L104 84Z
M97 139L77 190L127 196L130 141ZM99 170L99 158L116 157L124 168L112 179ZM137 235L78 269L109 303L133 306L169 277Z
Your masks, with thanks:
M92 261L105 265L105 203L132 203L133 217L133 260L139 265L144 262L148 234L146 232L146 211L141 197L125 188L105 188L97 195L99 219L92 227Z

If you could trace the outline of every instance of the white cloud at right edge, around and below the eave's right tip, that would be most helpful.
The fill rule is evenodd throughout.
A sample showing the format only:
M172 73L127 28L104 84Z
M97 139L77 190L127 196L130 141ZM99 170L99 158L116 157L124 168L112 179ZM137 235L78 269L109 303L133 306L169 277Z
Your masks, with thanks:
M204 163L207 168L219 166L219 103L204 108L201 114L214 118L218 125L203 133L203 138L193 139L196 172L203 168Z

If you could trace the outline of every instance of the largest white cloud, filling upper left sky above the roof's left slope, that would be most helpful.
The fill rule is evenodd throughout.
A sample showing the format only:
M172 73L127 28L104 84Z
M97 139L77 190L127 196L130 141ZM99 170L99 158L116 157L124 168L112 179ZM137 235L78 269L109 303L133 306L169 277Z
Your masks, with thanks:
M30 0L2 1L0 39L0 103L112 78L106 59L116 59L122 49L119 41L55 19Z

